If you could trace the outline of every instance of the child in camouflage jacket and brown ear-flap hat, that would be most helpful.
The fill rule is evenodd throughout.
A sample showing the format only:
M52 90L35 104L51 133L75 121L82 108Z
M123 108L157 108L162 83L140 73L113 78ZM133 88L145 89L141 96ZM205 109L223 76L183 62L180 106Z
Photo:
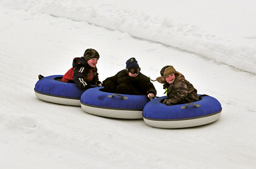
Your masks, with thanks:
M164 72L157 81L164 84L167 88L167 99L163 103L166 105L183 104L199 100L197 90L185 79L185 77L177 72L173 66L163 67Z

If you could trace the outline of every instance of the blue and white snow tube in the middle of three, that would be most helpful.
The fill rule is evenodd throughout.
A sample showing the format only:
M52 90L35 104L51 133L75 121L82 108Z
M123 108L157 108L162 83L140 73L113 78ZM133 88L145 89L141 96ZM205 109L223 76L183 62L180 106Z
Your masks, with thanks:
M104 87L91 88L81 96L81 107L92 115L142 119L143 107L150 99L146 95L125 95L103 91Z

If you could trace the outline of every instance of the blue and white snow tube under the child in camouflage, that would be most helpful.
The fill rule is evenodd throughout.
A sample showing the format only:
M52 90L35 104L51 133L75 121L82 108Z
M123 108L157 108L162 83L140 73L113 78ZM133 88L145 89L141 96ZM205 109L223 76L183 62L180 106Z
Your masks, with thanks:
M222 110L220 102L208 95L199 96L199 101L171 106L162 103L167 96L155 98L144 106L143 120L157 128L194 127L218 120Z

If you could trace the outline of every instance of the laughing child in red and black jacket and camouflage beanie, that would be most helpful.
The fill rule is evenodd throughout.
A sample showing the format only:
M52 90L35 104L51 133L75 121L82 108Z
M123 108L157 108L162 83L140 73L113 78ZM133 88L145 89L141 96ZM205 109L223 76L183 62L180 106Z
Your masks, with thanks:
M98 59L99 53L95 49L86 49L83 57L73 59L73 67L68 70L61 81L75 82L82 90L87 90L93 86L95 87L95 85L101 86L96 68Z

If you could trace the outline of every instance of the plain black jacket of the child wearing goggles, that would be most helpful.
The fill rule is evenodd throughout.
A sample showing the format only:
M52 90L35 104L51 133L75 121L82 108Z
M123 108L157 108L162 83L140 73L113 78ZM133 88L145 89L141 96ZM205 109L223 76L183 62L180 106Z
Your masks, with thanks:
M131 77L126 70L121 70L115 76L106 78L102 86L105 92L130 94L130 95L147 95L153 93L155 96L157 91L150 78L139 72L138 76Z

